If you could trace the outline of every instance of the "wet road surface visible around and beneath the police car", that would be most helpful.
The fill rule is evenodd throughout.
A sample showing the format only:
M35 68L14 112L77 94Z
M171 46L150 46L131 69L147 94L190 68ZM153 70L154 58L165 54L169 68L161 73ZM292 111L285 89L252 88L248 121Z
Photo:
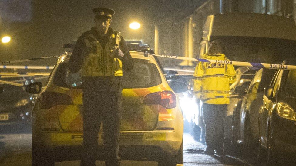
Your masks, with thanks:
M29 123L0 126L0 165L31 165L32 134ZM239 158L225 156L208 156L203 154L205 146L195 142L188 134L183 135L184 166L192 165L254 165L252 162ZM252 160L250 160L252 161ZM254 161L254 160L253 160ZM57 166L79 165L80 161L56 162ZM96 165L104 165L103 161L96 161ZM123 160L123 166L157 165L154 161Z

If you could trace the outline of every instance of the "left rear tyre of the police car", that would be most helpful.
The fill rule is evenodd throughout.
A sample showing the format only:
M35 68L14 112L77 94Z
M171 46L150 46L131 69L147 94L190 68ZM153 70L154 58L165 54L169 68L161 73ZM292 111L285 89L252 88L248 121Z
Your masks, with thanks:
M49 151L41 146L37 146L32 141L32 166L54 166L55 162Z

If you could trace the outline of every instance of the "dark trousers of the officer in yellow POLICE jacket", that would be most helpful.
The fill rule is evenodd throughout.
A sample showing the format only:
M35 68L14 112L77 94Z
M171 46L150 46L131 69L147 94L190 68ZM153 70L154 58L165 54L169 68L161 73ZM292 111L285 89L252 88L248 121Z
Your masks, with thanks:
M203 103L203 119L205 126L205 142L207 151L223 151L224 117L226 104Z

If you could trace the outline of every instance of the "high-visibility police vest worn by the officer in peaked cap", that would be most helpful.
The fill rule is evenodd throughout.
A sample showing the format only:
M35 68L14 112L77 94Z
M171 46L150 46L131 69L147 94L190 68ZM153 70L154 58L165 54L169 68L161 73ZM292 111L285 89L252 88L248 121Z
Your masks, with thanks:
M114 31L103 49L93 34L90 33L84 37L86 43L92 44L92 51L84 57L82 64L83 77L122 76L122 62L112 54L114 46L119 46L118 38L120 38L119 34Z

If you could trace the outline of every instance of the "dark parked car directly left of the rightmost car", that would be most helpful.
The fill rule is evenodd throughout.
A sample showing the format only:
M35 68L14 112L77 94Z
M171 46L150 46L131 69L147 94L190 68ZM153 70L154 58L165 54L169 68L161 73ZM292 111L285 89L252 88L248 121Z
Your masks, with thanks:
M276 70L260 69L251 80L247 91L237 86L235 91L240 93L243 100L236 104L232 116L231 145L242 148L247 155L256 154L258 139L258 114L262 106L264 87L269 85Z

